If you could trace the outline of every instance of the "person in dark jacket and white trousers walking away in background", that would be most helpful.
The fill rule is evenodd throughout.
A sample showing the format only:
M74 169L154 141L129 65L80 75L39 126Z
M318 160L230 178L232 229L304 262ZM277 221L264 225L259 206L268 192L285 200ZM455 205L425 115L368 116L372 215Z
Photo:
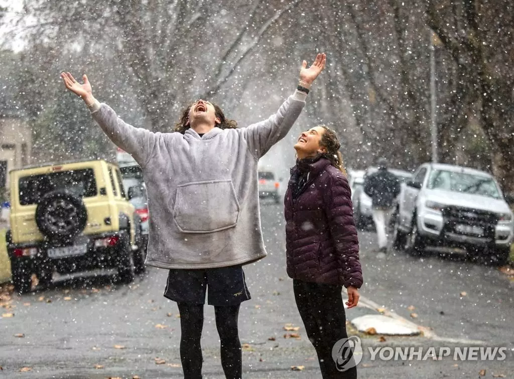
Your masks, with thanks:
M386 158L378 159L378 171L364 179L364 193L372 199L373 221L377 231L378 252L387 252L387 225L394 210L394 200L400 193L400 181L388 171Z

